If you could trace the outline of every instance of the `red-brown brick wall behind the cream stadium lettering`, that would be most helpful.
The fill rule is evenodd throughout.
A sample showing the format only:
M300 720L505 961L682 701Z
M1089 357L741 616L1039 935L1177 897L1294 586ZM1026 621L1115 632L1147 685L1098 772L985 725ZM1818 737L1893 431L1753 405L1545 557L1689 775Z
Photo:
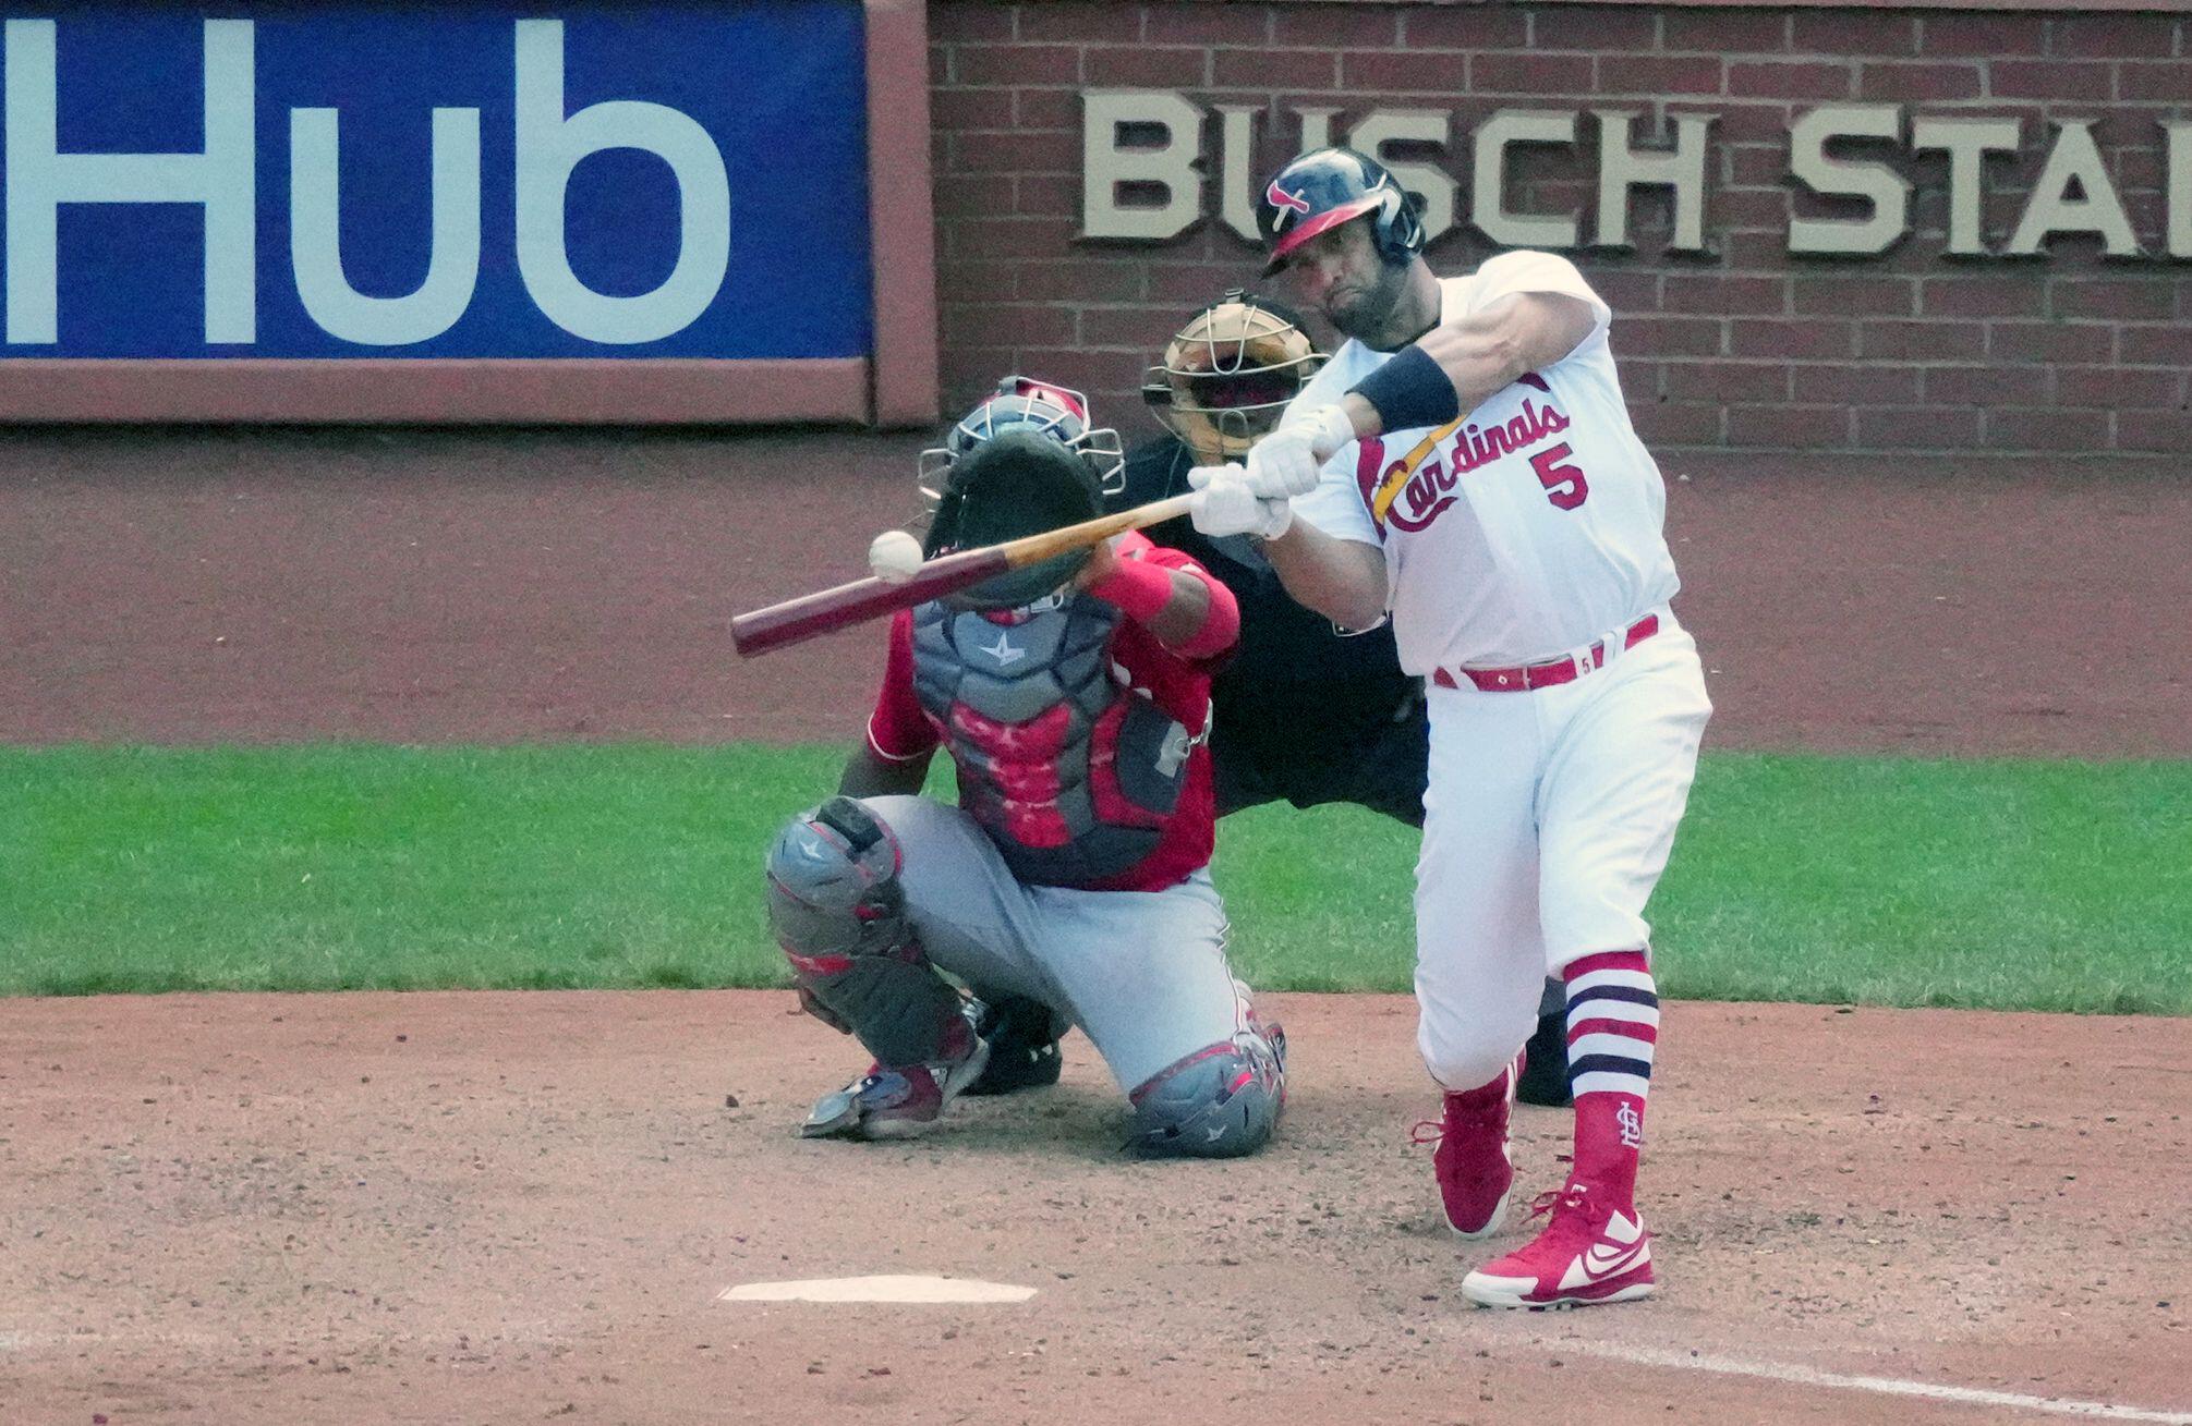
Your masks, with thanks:
M1026 370L1085 386L1100 418L1146 434L1142 368L1188 311L1254 274L1254 248L1214 217L1168 243L1076 241L1083 88L1265 105L1258 182L1295 149L1293 105L1342 110L1337 134L1372 107L1449 110L1442 166L1464 219L1480 118L1620 101L1655 125L1721 116L1712 256L1666 252L1670 206L1653 195L1633 208L1635 254L1574 254L1616 307L1624 388L1655 445L2192 451L2192 263L2107 261L2093 239L2060 239L2047 258L1946 258L1940 153L1900 162L1911 234L1890 254L1786 252L1791 212L1848 212L1786 177L1791 120L1826 101L2023 118L2019 156L1986 166L1995 248L2039 177L2045 120L2098 118L2133 226L2157 250L2155 125L2192 118L2181 15L940 0L929 39L947 410ZM1589 140L1543 153L1521 206L1567 208L1591 191ZM1486 252L1460 221L1429 256L1458 272Z

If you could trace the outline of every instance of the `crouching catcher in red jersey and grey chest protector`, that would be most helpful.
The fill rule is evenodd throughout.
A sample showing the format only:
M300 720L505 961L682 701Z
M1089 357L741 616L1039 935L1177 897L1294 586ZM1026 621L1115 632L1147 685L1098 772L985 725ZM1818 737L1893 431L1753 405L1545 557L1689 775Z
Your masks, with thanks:
M1092 519L1118 475L1078 394L1021 379L945 453L923 462L940 478L929 556ZM1285 1038L1228 966L1206 870L1210 670L1236 629L1225 585L1140 534L892 620L840 795L767 854L802 1005L875 1056L802 1135L921 1135L982 1076L980 1003L949 973L1081 1025L1142 1152L1263 1148ZM958 806L918 795L938 747Z

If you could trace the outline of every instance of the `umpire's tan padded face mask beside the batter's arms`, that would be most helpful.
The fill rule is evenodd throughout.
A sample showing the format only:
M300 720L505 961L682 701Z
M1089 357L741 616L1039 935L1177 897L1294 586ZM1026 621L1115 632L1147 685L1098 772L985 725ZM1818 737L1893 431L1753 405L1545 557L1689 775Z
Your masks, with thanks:
M1289 307L1232 289L1166 344L1142 399L1199 462L1245 460L1322 366Z

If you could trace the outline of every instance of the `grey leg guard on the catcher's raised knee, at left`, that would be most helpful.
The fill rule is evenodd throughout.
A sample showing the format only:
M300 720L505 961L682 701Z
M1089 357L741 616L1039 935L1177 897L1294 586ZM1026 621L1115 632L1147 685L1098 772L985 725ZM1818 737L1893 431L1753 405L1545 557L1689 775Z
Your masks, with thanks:
M905 920L899 839L866 804L831 797L769 843L769 927L791 973L883 1065L940 1058L960 994Z

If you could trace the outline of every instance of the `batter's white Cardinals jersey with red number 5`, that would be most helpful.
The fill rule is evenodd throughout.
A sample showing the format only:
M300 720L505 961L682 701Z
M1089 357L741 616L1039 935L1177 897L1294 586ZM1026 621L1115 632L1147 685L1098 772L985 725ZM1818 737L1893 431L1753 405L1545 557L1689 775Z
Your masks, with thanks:
M1445 278L1440 322L1521 291L1589 302L1591 335L1462 421L1346 445L1293 502L1326 534L1385 550L1385 607L1401 666L1554 657L1672 598L1666 482L1629 425L1611 309L1567 258L1506 252ZM1333 405L1392 359L1348 342L1289 416Z

